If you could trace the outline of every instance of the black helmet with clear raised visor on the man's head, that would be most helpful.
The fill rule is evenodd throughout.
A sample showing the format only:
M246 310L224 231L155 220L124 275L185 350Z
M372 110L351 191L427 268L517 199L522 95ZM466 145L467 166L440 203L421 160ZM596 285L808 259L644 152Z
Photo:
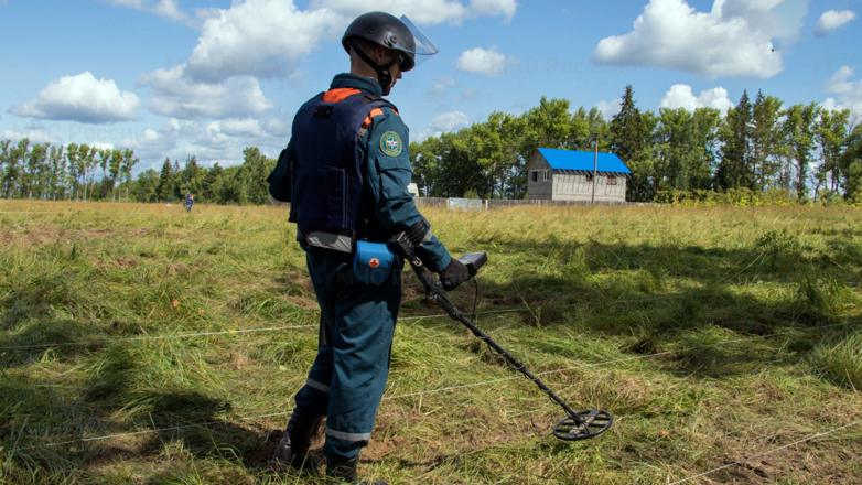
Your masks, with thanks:
M351 23L344 32L344 37L342 37L342 45L348 54L352 45L351 40L355 37L365 39L377 45L400 51L402 55L399 56L398 65L401 67L401 72L416 67L418 64L417 55L423 56L419 61L421 63L422 60L438 53L434 44L422 35L419 29L406 15L397 19L386 12L364 13ZM365 62L368 62L358 48L356 51ZM371 67L378 67L374 63L369 64ZM384 68L388 67L385 66Z

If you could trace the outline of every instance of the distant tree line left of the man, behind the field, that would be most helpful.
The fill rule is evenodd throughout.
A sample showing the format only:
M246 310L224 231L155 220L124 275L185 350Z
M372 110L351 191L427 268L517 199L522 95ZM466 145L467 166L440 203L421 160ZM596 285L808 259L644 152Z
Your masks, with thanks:
M240 165L212 169L194 155L180 164L164 160L161 171L148 169L132 180L140 161L131 149L98 149L87 144L12 144L0 140L0 197L51 201L180 202L184 194L213 204L263 204L267 175L276 161L249 147Z

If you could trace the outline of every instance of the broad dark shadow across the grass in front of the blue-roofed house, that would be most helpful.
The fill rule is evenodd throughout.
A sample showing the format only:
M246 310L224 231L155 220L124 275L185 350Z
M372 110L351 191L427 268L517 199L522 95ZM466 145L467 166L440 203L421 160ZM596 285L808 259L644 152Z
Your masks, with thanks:
M595 241L497 244L486 268L493 272L480 277L477 311L520 306L525 326L567 325L593 338L622 338L631 342L619 348L624 355L698 347L662 358L677 363L671 371L678 375L730 377L747 371L746 365L777 360L712 344L762 337L780 342L794 358L807 358L816 343L837 328L807 330L862 317L856 288L861 252L813 254L776 239L782 236L753 250ZM495 252L504 257L504 267L494 268ZM510 270L513 261L520 261L521 269ZM433 313L416 277L405 273L405 313ZM450 297L471 317L472 285ZM495 323L477 324L493 336ZM511 319L505 325L510 326ZM444 328L463 335L457 324ZM788 334L790 330L802 332Z

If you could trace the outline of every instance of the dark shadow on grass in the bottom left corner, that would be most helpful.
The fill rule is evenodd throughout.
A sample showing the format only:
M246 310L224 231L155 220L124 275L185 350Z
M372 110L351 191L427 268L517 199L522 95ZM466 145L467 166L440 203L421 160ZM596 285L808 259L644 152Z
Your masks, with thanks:
M191 364L181 363L182 354L133 344L98 351L87 364L93 377L80 386L45 384L44 377L31 377L29 367L2 373L0 482L98 482L104 464L159 457L170 468L173 461L166 459L177 453L250 470L266 466L262 456L274 448L270 430L224 418L230 402L190 378L183 367ZM41 352L18 354L15 362L32 363L52 351ZM88 352L79 357L86 360Z

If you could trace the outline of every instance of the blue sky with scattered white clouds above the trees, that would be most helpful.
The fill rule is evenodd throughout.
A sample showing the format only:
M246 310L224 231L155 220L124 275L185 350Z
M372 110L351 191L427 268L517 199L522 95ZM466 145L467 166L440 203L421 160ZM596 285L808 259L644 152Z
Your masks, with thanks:
M763 89L862 117L862 0L0 0L0 139L132 148L136 171L276 157L370 10L440 48L390 95L412 140L542 96L610 117L627 84L653 111Z

